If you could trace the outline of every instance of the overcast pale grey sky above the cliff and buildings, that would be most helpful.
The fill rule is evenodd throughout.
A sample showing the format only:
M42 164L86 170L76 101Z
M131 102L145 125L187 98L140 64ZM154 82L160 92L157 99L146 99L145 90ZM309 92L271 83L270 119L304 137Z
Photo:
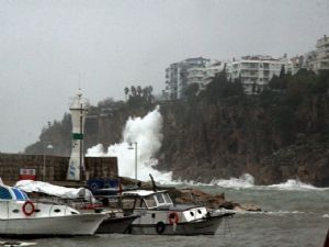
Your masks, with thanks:
M36 142L79 86L92 104L159 92L171 63L293 56L324 34L328 0L0 0L0 151Z

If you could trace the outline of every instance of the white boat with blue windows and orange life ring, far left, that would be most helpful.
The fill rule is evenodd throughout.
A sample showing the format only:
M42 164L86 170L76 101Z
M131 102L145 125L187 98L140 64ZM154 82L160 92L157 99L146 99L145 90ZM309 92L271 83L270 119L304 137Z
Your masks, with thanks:
M93 235L104 218L63 204L32 202L22 190L0 186L0 235Z

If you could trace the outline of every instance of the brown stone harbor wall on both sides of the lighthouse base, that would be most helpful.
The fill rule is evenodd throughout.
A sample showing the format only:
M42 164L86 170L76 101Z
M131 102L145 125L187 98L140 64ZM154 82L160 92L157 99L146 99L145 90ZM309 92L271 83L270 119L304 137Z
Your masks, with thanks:
M44 162L45 161L45 162ZM69 157L0 154L0 177L11 184L20 179L20 169L34 169L36 180L43 180L45 164L45 181L58 183L66 180ZM117 178L116 157L84 157L87 178Z

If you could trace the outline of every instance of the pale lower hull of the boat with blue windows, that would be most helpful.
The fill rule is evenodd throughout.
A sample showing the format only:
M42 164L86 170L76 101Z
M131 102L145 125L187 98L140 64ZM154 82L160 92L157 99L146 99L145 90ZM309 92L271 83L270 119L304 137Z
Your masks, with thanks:
M0 220L2 236L93 235L105 218L103 214L72 214L55 217Z

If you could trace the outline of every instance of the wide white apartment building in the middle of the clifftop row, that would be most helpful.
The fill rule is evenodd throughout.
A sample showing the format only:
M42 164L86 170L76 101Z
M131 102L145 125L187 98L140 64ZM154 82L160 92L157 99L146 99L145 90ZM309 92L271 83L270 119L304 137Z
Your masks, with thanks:
M240 79L247 94L254 94L264 89L274 75L285 72L295 74L293 63L286 57L274 59L271 56L245 56L239 60L227 64L227 77L231 80Z

